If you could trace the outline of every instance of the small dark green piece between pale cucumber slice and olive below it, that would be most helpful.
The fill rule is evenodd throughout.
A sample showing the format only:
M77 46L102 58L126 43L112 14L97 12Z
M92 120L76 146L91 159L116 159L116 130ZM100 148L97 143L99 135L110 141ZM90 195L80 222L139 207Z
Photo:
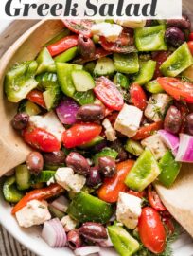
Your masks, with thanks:
M86 92L75 92L73 99L80 105L93 104L96 101L93 90L88 90Z

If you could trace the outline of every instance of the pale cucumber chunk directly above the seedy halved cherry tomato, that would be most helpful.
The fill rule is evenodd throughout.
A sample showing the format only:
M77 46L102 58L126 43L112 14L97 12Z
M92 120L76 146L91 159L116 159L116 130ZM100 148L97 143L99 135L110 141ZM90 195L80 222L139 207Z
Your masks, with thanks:
M97 60L94 74L100 76L111 76L114 74L114 62L108 57L103 57Z

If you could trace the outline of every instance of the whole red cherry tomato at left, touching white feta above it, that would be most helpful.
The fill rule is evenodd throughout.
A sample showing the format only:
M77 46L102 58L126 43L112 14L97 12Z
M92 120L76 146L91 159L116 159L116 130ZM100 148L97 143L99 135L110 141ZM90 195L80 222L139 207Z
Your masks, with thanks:
M61 149L59 140L44 129L28 126L22 135L26 143L35 149L44 152L59 151Z

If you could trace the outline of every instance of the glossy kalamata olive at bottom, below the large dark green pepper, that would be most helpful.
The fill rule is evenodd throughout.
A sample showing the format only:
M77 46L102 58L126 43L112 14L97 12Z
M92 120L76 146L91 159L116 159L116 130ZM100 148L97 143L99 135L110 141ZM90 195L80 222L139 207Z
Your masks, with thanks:
M96 222L85 222L79 228L79 234L92 242L99 242L108 238L107 230Z

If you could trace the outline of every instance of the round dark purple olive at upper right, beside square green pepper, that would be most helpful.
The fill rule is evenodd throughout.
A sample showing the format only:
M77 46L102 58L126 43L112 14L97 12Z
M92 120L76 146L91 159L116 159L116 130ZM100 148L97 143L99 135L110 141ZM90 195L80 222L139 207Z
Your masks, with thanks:
M165 40L168 45L179 47L185 41L184 32L178 27L168 27L165 33Z

